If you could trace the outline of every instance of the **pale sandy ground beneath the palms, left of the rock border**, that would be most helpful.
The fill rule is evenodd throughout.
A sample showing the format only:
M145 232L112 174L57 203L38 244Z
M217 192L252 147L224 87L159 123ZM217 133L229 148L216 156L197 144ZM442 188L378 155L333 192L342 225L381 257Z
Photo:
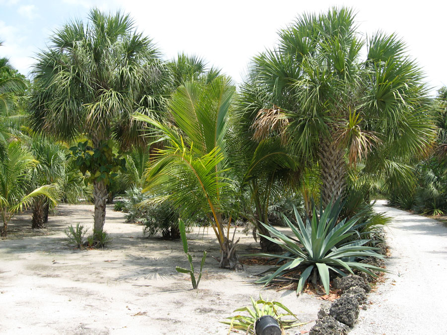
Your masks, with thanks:
M301 322L316 318L322 302L316 296L297 298L295 291L252 283L265 266L245 266L244 272L218 268L211 257L218 256L212 229L189 234L196 263L203 250L209 252L198 290L188 275L175 271L175 266L188 266L181 242L144 237L142 226L125 223L123 213L112 207L105 223L113 238L108 248L67 246L67 225L90 226L92 215L91 205L60 205L48 228L37 232L30 228L30 214L13 219L10 237L0 240L1 334L226 334L227 326L219 321L260 292L283 302ZM236 236L241 238L239 254L258 247L251 234L238 231Z

